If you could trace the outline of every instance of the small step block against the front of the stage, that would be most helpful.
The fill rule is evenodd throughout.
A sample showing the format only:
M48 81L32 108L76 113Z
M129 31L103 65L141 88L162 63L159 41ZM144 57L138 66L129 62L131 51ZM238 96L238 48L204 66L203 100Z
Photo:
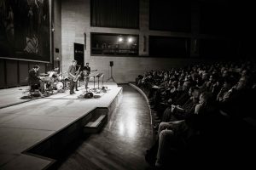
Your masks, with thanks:
M107 115L101 115L96 118L93 122L88 122L84 126L84 133L98 133L103 125L107 122L108 116Z

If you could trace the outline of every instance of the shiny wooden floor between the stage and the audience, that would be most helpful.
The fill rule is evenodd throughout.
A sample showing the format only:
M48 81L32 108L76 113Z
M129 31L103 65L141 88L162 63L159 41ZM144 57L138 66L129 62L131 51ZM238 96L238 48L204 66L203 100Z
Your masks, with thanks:
M61 163L59 169L145 169L144 152L151 145L148 105L129 85L120 105L101 133L90 135Z

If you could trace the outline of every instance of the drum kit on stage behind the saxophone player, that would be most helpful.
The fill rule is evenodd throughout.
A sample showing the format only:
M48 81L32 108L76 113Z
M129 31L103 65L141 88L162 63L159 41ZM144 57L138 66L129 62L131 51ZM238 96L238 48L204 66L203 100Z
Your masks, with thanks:
M48 71L47 74L41 73L40 76L43 77L40 77L40 79L44 82L45 91L53 92L53 90L57 90L57 92L65 92L69 88L69 79L64 77L65 73L67 72L58 74L56 71Z

